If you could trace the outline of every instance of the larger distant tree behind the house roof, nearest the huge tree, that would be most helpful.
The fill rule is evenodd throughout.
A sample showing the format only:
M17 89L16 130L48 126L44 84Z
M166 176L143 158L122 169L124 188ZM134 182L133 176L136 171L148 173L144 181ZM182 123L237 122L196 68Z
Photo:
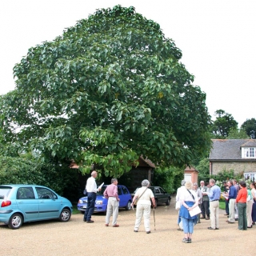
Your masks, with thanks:
M231 114L224 110L216 110L216 120L212 123L211 130L214 138L226 138L229 136L232 128L237 129L238 122L236 122Z

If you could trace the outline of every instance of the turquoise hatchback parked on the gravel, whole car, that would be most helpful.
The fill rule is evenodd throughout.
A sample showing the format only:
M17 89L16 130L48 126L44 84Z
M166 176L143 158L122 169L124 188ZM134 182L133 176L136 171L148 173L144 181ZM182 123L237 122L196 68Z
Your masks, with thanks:
M0 222L16 230L24 222L59 219L68 222L73 211L71 202L38 185L0 185Z

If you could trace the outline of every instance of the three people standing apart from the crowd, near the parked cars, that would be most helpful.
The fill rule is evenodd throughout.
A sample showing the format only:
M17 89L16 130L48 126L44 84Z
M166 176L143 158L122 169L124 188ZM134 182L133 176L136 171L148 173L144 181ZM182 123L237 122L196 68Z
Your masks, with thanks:
M91 177L87 179L86 182L86 190L87 190L87 207L84 214L84 222L93 223L94 221L91 219L91 215L94 213L94 204L96 200L97 191L101 190L101 188L97 188L97 184L95 182L95 178L97 178L97 171L93 171L91 173ZM138 232L138 228L142 222L142 216L144 218L144 227L146 230L146 234L150 234L150 210L151 205L155 207L154 194L152 190L148 188L150 186L150 182L147 179L142 181L142 187L139 188L134 194L133 202L131 202L131 206L134 206L136 202L136 220L134 225L134 232ZM107 209L106 209L106 222L105 226L110 225L110 217L112 217L112 226L118 227L118 206L119 206L119 198L118 198L118 179L112 178L111 184L106 186L106 190L103 193L105 198L108 198Z

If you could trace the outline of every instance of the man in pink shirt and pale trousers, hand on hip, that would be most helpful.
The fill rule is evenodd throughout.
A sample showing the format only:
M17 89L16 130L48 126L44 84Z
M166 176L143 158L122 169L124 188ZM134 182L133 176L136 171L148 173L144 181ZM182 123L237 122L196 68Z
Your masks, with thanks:
M110 217L113 214L112 225L118 227L118 206L120 199L118 198L118 180L116 178L111 179L111 185L106 187L103 195L105 198L108 198L105 226L109 226Z

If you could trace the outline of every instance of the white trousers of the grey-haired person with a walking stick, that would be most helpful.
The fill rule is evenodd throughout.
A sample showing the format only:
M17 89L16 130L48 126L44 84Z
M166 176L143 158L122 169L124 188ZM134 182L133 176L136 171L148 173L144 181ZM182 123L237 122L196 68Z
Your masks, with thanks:
M145 230L150 231L150 210L151 210L151 206L149 205L136 206L136 221L135 221L134 230L138 230L138 227L141 225L142 215L143 215Z

